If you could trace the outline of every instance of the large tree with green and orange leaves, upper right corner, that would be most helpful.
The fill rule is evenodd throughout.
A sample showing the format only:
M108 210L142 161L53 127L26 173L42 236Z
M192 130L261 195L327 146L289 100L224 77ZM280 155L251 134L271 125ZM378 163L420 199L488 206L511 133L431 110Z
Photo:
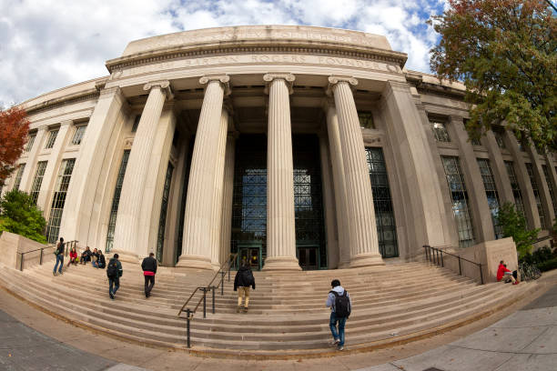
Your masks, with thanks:
M430 68L461 80L478 138L491 125L557 149L557 21L544 0L449 0L428 23L441 35Z

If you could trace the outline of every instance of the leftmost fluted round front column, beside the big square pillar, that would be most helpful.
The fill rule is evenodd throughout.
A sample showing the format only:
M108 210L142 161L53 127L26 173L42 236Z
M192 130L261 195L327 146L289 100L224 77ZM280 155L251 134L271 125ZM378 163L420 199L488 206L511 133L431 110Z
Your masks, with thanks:
M167 95L172 94L169 87L168 81L153 82L143 86L143 89L148 91L149 95L139 125L137 125L134 145L129 154L114 236L114 251L119 253L124 260L137 260L140 253L137 246L137 236L142 206L141 200L143 199L147 175L151 171L147 164L149 164L151 150L155 143L163 105Z

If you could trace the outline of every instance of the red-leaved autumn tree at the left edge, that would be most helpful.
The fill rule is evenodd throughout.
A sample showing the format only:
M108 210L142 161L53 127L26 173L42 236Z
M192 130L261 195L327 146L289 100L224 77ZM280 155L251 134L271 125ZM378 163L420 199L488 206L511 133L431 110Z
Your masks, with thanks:
M0 111L0 186L4 186L5 178L14 171L28 132L29 120L24 109L12 107Z

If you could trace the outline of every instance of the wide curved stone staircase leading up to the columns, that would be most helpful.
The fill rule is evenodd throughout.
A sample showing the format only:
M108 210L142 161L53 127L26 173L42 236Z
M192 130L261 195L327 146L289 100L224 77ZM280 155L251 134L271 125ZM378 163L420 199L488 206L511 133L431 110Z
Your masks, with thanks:
M116 300L108 297L106 271L88 266L65 267L52 275L52 264L23 272L0 266L0 286L53 316L94 331L149 346L187 349L186 319L178 310L213 272L159 268L152 295L143 293L139 265L123 263ZM233 278L225 278L224 295L216 293L216 314L202 306L191 321L191 348L200 356L285 358L330 356L330 281L348 289L353 311L346 329L348 351L400 344L462 326L488 316L536 290L518 286L478 285L469 278L425 263L369 268L255 272L248 313L236 313ZM197 304L197 297L192 303ZM193 307L193 306L191 306Z

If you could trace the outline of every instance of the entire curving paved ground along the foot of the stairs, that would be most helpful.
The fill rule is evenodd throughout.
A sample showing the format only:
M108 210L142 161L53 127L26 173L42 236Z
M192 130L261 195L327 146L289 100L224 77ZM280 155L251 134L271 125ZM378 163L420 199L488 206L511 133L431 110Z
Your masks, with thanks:
M127 344L68 325L0 289L0 370L553 371L557 271L541 281L549 289L532 303L450 333L369 353L289 361L201 358Z

